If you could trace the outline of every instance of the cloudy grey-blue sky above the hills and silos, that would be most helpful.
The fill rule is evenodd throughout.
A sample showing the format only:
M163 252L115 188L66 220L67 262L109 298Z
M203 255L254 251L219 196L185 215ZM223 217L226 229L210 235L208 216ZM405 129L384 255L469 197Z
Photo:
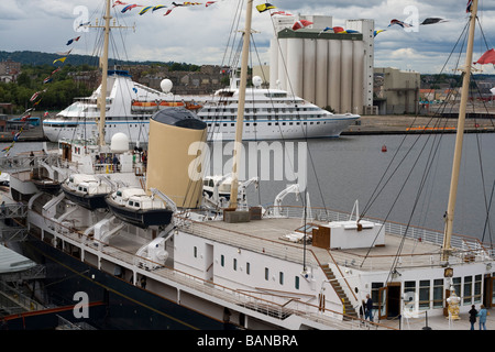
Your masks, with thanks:
M172 1L130 1L141 6L165 4ZM201 1L206 3L206 1ZM241 0L220 0L206 8L194 6L176 8L164 16L165 10L139 15L140 8L120 13L122 6L113 8L119 23L134 25L135 31L113 31L114 47L124 59L174 61L191 64L222 64L232 18ZM176 1L180 3L182 1ZM254 0L254 4L263 3ZM344 26L345 20L372 19L375 29L386 29L375 38L375 66L413 69L420 73L440 73L453 45L460 37L468 21L466 0L272 0L277 10L300 14L333 16L332 25ZM92 54L95 30L77 33L75 23L84 20L95 24L101 18L103 0L1 0L0 1L0 50L42 51L46 53L65 52ZM243 8L245 4L243 4ZM477 44L474 61L486 45L495 43L495 0L480 0L480 22L487 44L482 42L481 31L476 31ZM418 26L406 32L397 25L387 28L391 20L417 23L426 18L442 18L444 23ZM241 25L243 26L243 24ZM268 62L267 46L274 31L271 15L253 12L255 43L263 62ZM66 46L66 42L81 35L79 42ZM116 56L116 54L111 54ZM67 63L69 59L67 59ZM485 73L494 73L492 65L485 65ZM443 72L447 73L450 67Z

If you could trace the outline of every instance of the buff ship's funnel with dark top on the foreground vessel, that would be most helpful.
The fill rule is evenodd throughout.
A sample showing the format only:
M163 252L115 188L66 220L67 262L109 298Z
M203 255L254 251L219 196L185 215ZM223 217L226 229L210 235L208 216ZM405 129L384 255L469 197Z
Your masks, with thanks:
M197 208L202 197L207 124L185 109L167 108L150 119L146 189L156 188L178 208Z

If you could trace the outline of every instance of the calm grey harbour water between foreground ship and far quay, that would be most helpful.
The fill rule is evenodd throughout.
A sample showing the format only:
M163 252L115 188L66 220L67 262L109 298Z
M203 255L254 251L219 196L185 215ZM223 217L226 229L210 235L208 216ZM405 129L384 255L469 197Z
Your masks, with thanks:
M366 217L410 222L442 231L454 141L455 135L450 133L342 135L339 139L274 141L267 143L272 147L268 164L261 153L254 163L252 155L250 156L249 144L255 143L260 147L261 142L245 142L245 169L241 174L248 178L260 173L261 164L268 165L270 176L261 177L260 187L254 189L250 186L246 194L250 205L272 205L279 191L297 182L287 175L287 169L294 168L296 174L301 172L304 163L299 163L297 152L306 143L306 190L311 207L351 212L355 200L359 200L360 212L365 211ZM290 165L279 165L273 147L276 143L295 145L292 153L284 154L285 163L292 163ZM8 143L0 144L1 147L6 145ZM209 145L213 155L215 146ZM382 150L383 146L386 152ZM41 142L16 143L10 155L40 151L43 147ZM50 148L56 148L56 144L48 143ZM230 150L226 143L220 148L223 154L221 167L223 170L230 169ZM494 148L494 133L465 135L454 220L455 233L475 237L487 243L491 243L487 213L490 218L495 216L494 207L491 207L495 184ZM282 179L277 167L284 167ZM211 165L210 172L218 174L219 169ZM302 197L305 193L299 197L298 205L302 205ZM295 199L295 195L287 195L283 205L294 204Z

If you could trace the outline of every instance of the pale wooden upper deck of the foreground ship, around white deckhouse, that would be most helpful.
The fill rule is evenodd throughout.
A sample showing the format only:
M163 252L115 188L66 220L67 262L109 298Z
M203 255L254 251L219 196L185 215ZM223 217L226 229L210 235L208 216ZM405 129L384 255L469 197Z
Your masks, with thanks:
M328 221L308 221L307 224L326 224ZM293 261L302 261L302 251L307 250L307 261L315 264L336 263L339 266L362 271L388 271L397 257L399 265L431 266L439 264L441 245L424 241L421 238L407 238L385 231L385 245L360 249L322 249L308 241L292 242L285 235L305 226L296 218L264 218L249 222L229 223L221 220L196 222L187 230L195 234L230 242L246 250L263 251L268 255Z

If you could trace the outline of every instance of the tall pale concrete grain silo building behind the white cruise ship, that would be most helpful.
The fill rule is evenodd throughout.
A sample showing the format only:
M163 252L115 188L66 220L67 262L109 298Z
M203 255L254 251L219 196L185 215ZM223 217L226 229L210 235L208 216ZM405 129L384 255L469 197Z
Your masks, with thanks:
M331 16L299 16L312 25L293 31L294 19L277 19L271 43L270 87L288 90L338 113L373 108L373 20L346 21L345 30L322 32Z

